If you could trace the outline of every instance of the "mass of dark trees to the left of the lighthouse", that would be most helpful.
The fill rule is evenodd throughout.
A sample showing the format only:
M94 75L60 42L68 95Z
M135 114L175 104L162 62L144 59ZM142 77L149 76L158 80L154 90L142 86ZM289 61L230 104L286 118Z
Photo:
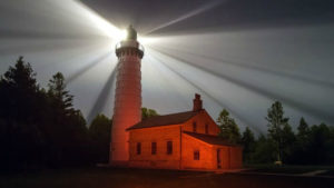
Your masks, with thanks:
M58 72L48 87L21 58L0 78L0 169L59 168L108 161L111 120L86 125Z

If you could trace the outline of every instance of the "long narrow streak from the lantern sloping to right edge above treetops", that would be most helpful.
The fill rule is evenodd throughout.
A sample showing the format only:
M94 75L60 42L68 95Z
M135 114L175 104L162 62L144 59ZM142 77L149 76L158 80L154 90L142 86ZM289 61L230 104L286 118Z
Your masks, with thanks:
M227 75L222 75L220 72L218 72L217 70L212 70L205 66L198 66L196 63L193 63L184 58L179 58L179 57L176 57L174 55L170 55L169 52L166 52L166 51L161 51L161 50L158 50L158 49L154 49L155 51L159 52L160 55L164 55L164 56L167 56L167 57L170 57L173 59L176 59L178 60L179 62L181 63L186 63L186 65L189 65L189 66L193 66L193 67L196 67L205 72L208 72L208 73L212 73L212 75L215 75L224 80L227 80L234 85L237 85L239 87L243 87L249 91L253 91L259 96L263 96L264 98L267 98L267 99L271 99L271 100L279 100L282 101L283 103L286 103L288 105L289 107L292 108L295 108L295 109L298 109L301 111L304 111L306 112L307 115L310 116L314 116L314 117L320 117L320 118L323 118L323 119L326 119L326 120L330 120L330 121L334 121L334 117L326 112L326 111L322 111L322 110L318 110L318 109L315 109L314 107L310 106L310 105L306 105L306 103L302 103L299 101L296 101L296 100L293 100L293 99L289 99L289 98L286 98L284 96L281 96L279 93L275 92L275 91L272 91L272 90L265 90L263 88L261 88L259 86L254 86L254 85L249 85L247 82L245 82L244 80L239 80L239 79L236 79L236 78L233 78L230 76L227 76Z

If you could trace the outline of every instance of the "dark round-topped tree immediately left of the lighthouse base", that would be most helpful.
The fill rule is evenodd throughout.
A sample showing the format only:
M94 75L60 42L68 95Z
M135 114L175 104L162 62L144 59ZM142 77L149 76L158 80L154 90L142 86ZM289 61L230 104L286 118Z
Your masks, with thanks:
M89 127L95 162L107 162L111 140L112 121L105 115L98 115Z

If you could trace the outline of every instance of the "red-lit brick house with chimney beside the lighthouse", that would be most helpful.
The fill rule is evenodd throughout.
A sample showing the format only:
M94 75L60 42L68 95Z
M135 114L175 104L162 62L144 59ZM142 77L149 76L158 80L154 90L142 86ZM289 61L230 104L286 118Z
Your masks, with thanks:
M217 137L218 126L202 108L200 96L191 111L147 118L127 129L132 167L168 169L239 169L242 147Z

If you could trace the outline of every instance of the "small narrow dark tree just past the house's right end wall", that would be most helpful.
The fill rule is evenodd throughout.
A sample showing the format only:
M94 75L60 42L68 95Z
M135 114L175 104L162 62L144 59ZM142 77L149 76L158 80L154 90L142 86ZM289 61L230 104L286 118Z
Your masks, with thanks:
M248 127L246 127L245 131L243 132L242 144L244 146L244 160L249 162L256 145L254 133Z

